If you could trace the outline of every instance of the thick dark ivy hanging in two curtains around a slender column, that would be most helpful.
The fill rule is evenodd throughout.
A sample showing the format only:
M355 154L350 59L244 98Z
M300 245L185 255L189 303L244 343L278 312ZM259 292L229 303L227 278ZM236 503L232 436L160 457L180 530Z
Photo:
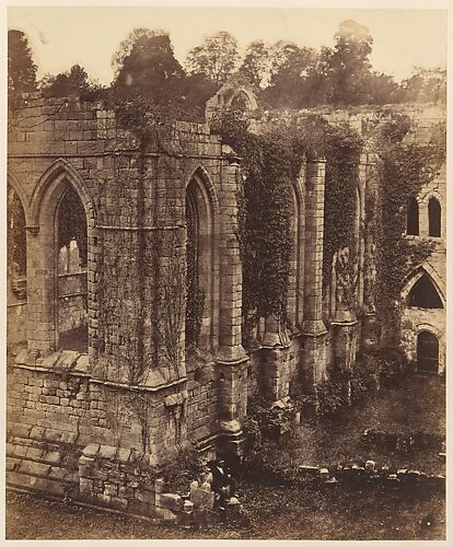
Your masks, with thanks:
M244 188L239 196L239 238L243 259L243 314L286 318L293 245L291 184L304 159L326 159L324 287L332 259L353 249L356 188L362 140L347 125L321 116L274 124L260 135L248 130L241 112L228 110L212 126L243 158ZM352 261L352 260L351 260Z

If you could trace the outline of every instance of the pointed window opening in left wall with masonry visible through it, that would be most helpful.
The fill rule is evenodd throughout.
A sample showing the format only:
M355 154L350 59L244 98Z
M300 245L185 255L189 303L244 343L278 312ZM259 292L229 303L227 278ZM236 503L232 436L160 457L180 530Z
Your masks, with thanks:
M88 351L88 228L78 193L68 185L56 216L57 329L59 349Z

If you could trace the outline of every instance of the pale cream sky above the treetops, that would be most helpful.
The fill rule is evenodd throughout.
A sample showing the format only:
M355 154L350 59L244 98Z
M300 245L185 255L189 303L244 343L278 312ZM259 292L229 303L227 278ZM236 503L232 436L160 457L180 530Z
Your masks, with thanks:
M108 84L111 60L119 43L137 26L170 32L176 58L204 36L228 31L244 49L253 39L332 46L341 21L353 19L373 36L374 70L400 80L413 67L445 67L444 10L340 10L307 8L156 8L156 7L13 7L8 27L24 31L38 66L38 78L79 63L91 78Z

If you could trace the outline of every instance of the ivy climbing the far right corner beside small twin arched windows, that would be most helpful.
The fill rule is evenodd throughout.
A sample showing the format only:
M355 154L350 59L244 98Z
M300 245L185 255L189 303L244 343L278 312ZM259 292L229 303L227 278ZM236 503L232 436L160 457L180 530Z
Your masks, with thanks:
M445 160L445 125L434 126L429 142L406 136L411 130L408 116L396 115L384 124L378 139L380 211L378 234L376 305L383 326L383 342L399 341L399 295L405 277L426 260L435 244L406 231L407 205L423 185L432 181Z

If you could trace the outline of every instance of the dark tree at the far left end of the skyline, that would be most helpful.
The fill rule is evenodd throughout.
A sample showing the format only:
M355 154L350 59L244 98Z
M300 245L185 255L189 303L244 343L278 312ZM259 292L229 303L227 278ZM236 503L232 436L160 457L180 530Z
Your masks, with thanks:
M8 95L10 100L20 93L36 90L36 65L26 35L21 31L8 31Z

